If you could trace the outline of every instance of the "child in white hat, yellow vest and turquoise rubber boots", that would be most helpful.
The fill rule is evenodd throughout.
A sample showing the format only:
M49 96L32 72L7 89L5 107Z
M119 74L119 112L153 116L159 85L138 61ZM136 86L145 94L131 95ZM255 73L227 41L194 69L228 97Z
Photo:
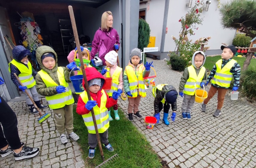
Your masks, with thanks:
M109 97L112 97L112 94L114 91L118 91L120 94L123 93L123 69L117 66L117 52L115 51L110 51L105 55L105 63L106 63L106 68L102 70L102 75L105 78L112 78L112 83L111 83L111 89L110 90L105 90L106 93L108 94ZM106 73L105 73L106 71ZM103 74L105 73L105 75ZM114 109L114 115L115 119L119 120L118 116L118 105L117 103L113 105ZM110 115L110 108L108 108L108 116L109 120L112 121L113 118Z

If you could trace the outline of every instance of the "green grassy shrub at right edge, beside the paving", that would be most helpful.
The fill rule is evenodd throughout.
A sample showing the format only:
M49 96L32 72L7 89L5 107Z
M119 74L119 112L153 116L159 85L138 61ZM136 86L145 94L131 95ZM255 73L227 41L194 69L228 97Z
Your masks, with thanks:
M256 100L256 68L251 67L242 72L241 75L242 92L249 99Z

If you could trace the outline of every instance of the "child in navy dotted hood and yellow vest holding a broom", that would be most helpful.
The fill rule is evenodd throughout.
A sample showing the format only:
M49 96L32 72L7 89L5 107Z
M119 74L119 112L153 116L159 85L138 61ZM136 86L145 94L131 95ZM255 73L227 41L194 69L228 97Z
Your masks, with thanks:
M28 60L28 57L31 56L31 52L23 46L15 46L12 50L12 55L14 59L9 63L11 80L23 92L27 90L29 96L33 98L38 108L46 109L47 106L41 105L40 100L38 99L38 93L36 92L34 76L37 74L37 72L32 69L32 65ZM23 86L20 85L14 73L19 77ZM32 101L29 99L29 96L26 94L26 102L29 106L30 113L38 114L39 112L34 107Z

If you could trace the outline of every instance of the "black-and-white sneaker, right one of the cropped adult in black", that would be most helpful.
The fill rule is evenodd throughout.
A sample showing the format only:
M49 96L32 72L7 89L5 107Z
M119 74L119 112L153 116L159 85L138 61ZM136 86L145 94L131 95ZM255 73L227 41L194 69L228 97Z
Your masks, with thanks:
M26 159L26 158L32 158L32 157L36 156L38 153L39 153L39 149L38 148L30 148L28 146L24 146L22 148L22 150L20 151L20 153L15 153L13 151L14 159L16 161L22 160L22 159Z

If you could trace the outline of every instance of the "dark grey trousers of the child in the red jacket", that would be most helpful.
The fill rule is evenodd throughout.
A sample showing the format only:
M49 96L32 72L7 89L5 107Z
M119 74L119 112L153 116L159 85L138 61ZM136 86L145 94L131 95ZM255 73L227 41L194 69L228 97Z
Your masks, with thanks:
M108 143L108 129L103 133L99 133L99 136L101 139L101 143L103 144ZM88 144L91 148L96 148L98 144L96 134L88 133Z

